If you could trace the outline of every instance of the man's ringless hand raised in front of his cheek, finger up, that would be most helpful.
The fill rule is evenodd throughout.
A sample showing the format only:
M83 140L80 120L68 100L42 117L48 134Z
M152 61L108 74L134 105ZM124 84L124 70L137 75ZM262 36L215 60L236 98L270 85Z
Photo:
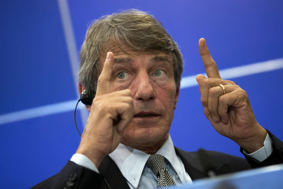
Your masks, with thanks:
M117 148L125 128L134 117L133 98L129 89L109 93L113 64L113 53L108 52L98 78L88 122L76 151L88 157L96 167L103 157Z

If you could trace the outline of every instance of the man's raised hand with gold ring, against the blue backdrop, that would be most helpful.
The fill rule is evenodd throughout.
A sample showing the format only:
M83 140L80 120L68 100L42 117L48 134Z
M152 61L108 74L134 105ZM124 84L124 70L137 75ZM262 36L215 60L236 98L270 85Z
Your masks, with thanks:
M260 149L267 132L257 123L246 91L232 81L221 79L204 38L199 40L199 51L208 76L196 77L206 118L218 133L246 151L252 153Z

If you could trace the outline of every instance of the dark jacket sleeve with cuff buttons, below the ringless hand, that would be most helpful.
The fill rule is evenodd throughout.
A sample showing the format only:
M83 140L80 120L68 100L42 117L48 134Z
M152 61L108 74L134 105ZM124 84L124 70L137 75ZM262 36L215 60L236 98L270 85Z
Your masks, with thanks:
M102 180L102 175L68 161L58 174L42 181L31 189L99 188Z

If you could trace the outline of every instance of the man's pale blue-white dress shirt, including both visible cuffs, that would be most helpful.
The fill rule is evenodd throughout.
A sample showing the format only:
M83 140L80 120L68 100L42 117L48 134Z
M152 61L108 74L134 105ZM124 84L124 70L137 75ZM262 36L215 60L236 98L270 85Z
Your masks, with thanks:
M247 154L246 151L243 152ZM264 141L264 146L254 153L248 155L262 162L264 159L269 157L271 153L271 139L267 134ZM165 167L167 170L169 170L170 175L175 180L177 185L192 183L190 176L185 170L184 164L175 152L170 136L156 152L156 154L161 154L165 157ZM119 144L118 147L111 154L109 154L109 156L116 163L131 189L157 188L157 176L149 167L145 165L148 157L150 156L149 154L134 149L133 147ZM91 162L91 160L83 154L74 154L70 160L78 165L99 173L98 169Z

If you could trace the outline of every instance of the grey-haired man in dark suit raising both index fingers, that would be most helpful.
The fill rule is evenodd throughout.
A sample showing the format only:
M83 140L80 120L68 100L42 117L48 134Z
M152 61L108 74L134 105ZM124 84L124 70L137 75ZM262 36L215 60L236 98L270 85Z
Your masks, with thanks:
M199 51L208 76L196 77L204 114L249 162L208 151L216 174L282 163L282 142L257 123L246 92L221 79L203 38ZM174 148L169 135L183 61L158 20L138 10L101 17L88 28L80 58L79 91L95 94L80 145L34 188L162 188L207 176L197 154Z

